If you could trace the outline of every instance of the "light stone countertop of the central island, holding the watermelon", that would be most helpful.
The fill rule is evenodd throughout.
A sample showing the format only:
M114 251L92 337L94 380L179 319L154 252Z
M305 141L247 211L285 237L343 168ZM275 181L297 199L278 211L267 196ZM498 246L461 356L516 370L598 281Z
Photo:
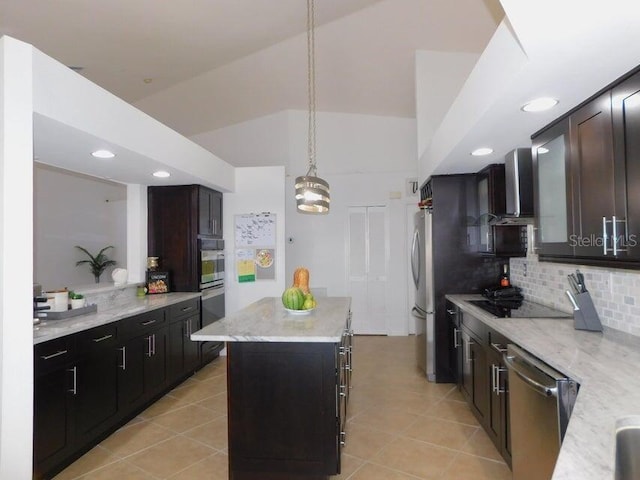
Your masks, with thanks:
M318 297L307 314L285 310L280 297L265 297L191 335L223 342L338 343L351 308L350 297Z

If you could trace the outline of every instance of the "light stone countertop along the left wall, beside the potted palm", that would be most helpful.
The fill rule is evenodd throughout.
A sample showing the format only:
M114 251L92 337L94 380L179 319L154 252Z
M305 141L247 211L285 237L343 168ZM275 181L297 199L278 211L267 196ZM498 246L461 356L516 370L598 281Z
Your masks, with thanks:
M173 292L144 297L119 298L109 305L98 305L98 311L64 320L43 318L33 327L33 344L46 342L93 327L122 320L140 313L168 307L174 303L200 297L199 292Z

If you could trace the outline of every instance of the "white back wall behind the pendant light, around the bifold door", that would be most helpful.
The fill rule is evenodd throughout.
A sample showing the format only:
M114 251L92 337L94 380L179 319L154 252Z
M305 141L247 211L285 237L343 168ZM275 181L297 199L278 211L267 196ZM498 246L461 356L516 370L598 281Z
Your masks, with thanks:
M415 120L319 112L317 124L318 174L331 186L328 215L304 215L295 210L294 179L306 173L308 167L306 112L280 112L207 132L192 140L212 151L223 151L225 158L234 162L248 162L259 156L285 166L287 221L284 235L286 239L291 237L293 243L287 241L284 248L283 286L291 284L296 267L305 266L310 271L312 288L325 287L333 296L349 295L347 209L349 206L387 205L391 251L389 284L392 286L389 333L406 334L410 302L406 281L406 236L410 234L406 226L406 205L417 202L417 197L406 195L405 184L408 178L417 176ZM284 145L283 141L286 142ZM242 170L239 169L236 175ZM247 193L247 188L241 188L242 182L237 182L236 193L225 194L225 231L229 228L226 212L230 199ZM400 198L390 199L391 192L398 192ZM255 211L255 206L250 207L249 212ZM262 210L264 208L258 211ZM233 295L231 292L228 301L232 307L237 305Z

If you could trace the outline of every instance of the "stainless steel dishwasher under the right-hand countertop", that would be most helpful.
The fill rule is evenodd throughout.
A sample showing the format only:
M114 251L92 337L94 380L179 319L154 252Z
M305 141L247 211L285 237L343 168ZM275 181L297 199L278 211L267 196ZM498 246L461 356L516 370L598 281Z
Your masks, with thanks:
M548 480L567 431L578 384L521 349L507 345L513 480Z

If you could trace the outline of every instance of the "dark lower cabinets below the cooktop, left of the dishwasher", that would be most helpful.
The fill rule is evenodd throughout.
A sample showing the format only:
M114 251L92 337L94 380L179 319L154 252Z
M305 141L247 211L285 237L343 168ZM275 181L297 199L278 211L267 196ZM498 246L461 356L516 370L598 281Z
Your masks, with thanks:
M457 306L447 305L454 329L457 383L471 411L511 465L509 384L502 355L509 339Z

